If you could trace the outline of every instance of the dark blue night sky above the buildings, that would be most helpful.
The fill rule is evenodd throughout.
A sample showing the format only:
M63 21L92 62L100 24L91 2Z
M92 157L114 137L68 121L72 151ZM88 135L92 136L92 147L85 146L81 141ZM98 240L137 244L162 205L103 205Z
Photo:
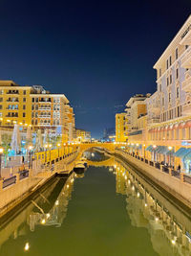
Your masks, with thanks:
M76 127L101 136L191 13L190 0L0 2L0 79L64 93Z

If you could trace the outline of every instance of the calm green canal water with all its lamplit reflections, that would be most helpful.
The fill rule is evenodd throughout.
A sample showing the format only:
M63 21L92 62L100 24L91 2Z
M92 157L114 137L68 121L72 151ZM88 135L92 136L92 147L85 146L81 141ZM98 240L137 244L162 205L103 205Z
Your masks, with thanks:
M191 255L189 215L117 159L56 177L0 230L2 256Z

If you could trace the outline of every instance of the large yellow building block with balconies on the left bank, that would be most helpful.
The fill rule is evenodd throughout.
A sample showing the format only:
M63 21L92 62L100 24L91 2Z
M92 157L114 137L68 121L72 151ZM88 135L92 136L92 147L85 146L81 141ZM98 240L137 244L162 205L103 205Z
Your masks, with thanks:
M41 85L21 86L14 81L0 81L0 126L13 128L14 124L41 128L50 134L59 134L62 140L73 140L69 135L73 109L64 94L51 94ZM74 113L72 114L74 118ZM74 128L74 127L73 127Z

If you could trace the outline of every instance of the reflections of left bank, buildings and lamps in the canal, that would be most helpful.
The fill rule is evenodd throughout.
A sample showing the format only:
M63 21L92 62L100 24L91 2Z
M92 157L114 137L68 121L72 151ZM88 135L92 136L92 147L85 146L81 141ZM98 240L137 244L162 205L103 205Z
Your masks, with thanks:
M35 231L37 225L60 227L67 215L75 177L77 175L72 174L68 179L55 178L53 184L40 193L38 198L31 200L23 211L4 223L0 230L0 248L10 238L15 240L27 235L29 229ZM25 251L30 249L29 242L23 246Z

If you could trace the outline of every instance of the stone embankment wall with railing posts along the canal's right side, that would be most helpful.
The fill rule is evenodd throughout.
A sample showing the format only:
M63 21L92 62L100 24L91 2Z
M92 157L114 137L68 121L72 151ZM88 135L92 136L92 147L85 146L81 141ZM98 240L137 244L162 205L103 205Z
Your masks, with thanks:
M115 154L122 157L130 167L140 174L153 180L172 197L191 208L191 175L156 165L157 163L133 156L126 151L116 150Z

